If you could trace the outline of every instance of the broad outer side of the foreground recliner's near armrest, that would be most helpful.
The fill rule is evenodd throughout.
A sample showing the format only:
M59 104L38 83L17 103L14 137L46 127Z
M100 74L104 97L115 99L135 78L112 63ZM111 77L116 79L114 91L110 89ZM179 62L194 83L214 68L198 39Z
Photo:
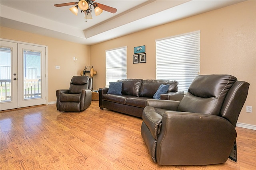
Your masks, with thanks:
M156 147L157 162L159 165L170 162L187 165L226 162L235 139L235 128L223 117L166 111L158 135L160 145ZM180 160L184 155L189 155L186 163Z

